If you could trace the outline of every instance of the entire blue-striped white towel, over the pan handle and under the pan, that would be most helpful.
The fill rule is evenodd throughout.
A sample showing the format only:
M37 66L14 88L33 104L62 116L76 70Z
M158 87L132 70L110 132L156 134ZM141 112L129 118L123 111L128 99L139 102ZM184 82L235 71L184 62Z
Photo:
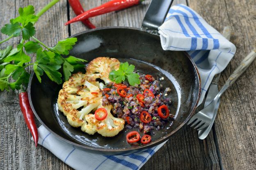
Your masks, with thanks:
M201 103L213 76L233 57L235 46L183 4L171 7L159 34L164 50L185 50L197 64L202 82ZM76 170L137 170L165 144L136 154L105 156L61 141L43 126L39 128L38 143Z

